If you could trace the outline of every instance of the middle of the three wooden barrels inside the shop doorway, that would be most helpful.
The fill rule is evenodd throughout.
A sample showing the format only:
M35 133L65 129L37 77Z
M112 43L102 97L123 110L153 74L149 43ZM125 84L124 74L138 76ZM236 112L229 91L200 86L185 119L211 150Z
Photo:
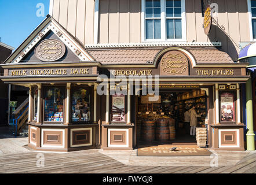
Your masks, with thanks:
M156 140L167 141L169 139L169 120L159 119L156 123Z

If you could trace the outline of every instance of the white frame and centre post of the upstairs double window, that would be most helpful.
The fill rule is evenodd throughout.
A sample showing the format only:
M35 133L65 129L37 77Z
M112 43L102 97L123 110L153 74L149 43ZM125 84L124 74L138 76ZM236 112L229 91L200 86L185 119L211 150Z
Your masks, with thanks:
M167 39L166 32L166 0L160 0L160 17L161 20L161 39L146 39L146 29L145 29L145 0L141 0L141 42L186 42L186 10L185 10L185 0L181 1L181 29L182 38L181 39Z

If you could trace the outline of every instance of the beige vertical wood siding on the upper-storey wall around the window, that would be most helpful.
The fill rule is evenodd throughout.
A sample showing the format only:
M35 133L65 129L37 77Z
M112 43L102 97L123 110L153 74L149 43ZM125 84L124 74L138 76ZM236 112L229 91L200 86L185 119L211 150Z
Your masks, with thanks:
M214 17L224 31L213 25L203 32L201 0L186 0L188 42L222 42L222 50L236 60L239 42L250 41L247 0L214 0ZM94 0L54 0L53 17L83 44L93 43ZM141 42L141 0L100 0L98 43Z

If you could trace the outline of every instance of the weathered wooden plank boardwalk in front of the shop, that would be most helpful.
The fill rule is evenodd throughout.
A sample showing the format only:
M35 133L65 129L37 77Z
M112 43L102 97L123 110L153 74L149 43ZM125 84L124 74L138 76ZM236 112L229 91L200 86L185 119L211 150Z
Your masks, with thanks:
M1 154L0 173L256 173L255 151L246 153L235 165L218 167L127 165L99 151Z

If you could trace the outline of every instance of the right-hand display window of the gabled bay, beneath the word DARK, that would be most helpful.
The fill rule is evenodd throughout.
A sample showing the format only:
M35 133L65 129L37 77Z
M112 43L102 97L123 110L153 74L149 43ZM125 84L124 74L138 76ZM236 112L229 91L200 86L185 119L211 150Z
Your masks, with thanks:
M79 88L72 95L72 121L90 121L90 93Z

